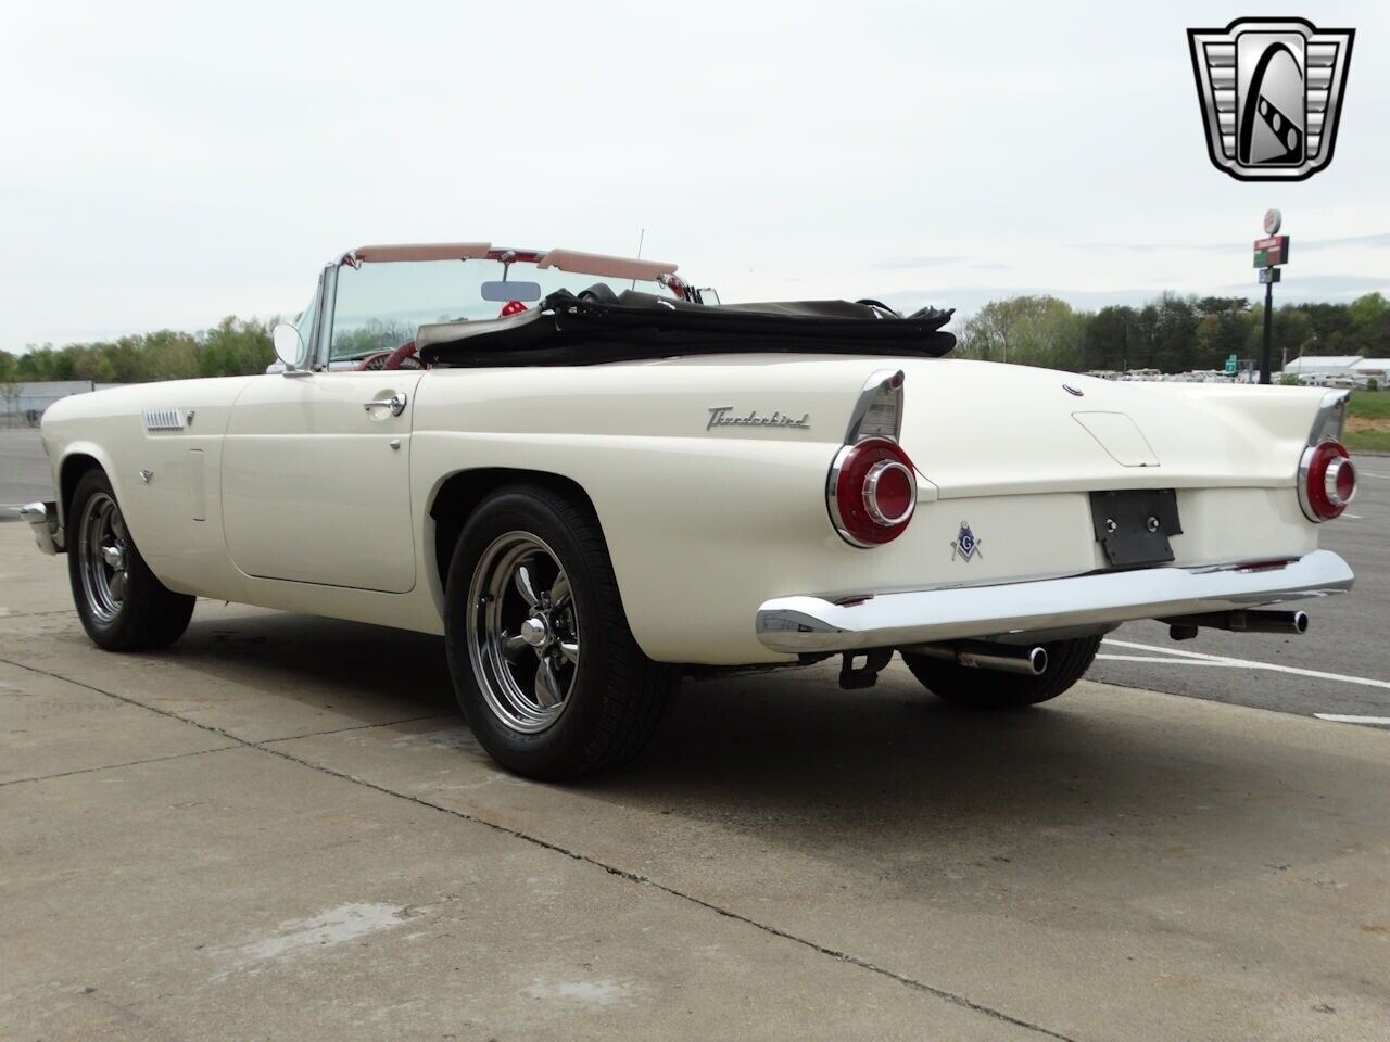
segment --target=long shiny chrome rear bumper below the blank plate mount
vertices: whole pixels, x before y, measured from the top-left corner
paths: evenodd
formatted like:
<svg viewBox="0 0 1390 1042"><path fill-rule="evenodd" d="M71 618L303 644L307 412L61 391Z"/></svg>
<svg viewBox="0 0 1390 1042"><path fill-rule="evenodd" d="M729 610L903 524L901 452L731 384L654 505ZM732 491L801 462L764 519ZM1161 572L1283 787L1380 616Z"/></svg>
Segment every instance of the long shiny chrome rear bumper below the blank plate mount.
<svg viewBox="0 0 1390 1042"><path fill-rule="evenodd" d="M990 638L1136 618L1279 604L1351 589L1330 550L1282 565L1143 568L999 586L774 597L758 610L758 639L774 652L852 652Z"/></svg>

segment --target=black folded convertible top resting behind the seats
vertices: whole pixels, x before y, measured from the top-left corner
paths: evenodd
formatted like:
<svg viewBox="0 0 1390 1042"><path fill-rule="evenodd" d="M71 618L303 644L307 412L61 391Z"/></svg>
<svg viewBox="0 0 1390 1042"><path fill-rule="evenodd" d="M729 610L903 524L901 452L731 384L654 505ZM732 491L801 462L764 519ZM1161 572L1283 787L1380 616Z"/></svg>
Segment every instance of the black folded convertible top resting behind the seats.
<svg viewBox="0 0 1390 1042"><path fill-rule="evenodd" d="M423 361L450 367L763 352L940 357L955 347L955 336L941 332L951 314L930 308L898 318L848 300L692 304L632 290L602 301L559 290L510 318L421 325L416 345Z"/></svg>

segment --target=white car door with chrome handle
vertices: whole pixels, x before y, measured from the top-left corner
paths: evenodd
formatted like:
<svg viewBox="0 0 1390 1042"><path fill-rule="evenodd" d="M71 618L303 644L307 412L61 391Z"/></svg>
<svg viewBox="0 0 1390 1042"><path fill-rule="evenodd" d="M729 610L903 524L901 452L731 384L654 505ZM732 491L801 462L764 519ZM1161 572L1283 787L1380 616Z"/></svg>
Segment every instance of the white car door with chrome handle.
<svg viewBox="0 0 1390 1042"><path fill-rule="evenodd" d="M410 427L423 375L250 381L222 449L224 531L240 571L388 593L414 588Z"/></svg>

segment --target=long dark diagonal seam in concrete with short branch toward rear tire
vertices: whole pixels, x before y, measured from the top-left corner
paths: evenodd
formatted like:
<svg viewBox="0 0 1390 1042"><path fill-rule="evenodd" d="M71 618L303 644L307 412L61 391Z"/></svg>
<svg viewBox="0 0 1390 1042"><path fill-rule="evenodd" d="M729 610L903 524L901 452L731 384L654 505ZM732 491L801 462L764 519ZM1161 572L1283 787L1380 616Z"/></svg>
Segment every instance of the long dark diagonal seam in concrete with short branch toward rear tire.
<svg viewBox="0 0 1390 1042"><path fill-rule="evenodd" d="M1026 1031L1033 1031L1033 1032L1036 1032L1038 1035L1044 1035L1047 1038L1055 1038L1059 1042L1079 1042L1077 1039L1072 1038L1070 1035L1063 1035L1063 1034L1061 1034L1058 1031L1052 1031L1051 1028L1045 1028L1045 1027L1042 1027L1040 1024L1033 1024L1033 1023L1022 1020L1019 1017L1013 1017L1013 1016L1011 1016L1008 1013L1004 1013L1002 1010L994 1009L992 1006L984 1006L983 1003L979 1003L979 1002L974 1002L972 999L967 999L963 995L956 995L955 992L947 991L945 988L938 988L935 985L927 984L926 981L919 981L915 977L908 977L906 974L901 974L901 973L898 973L895 970L890 970L890 968L887 968L884 966L878 966L877 963L870 961L869 959L865 959L862 956L856 956L856 954L853 954L851 952L844 952L844 950L837 949L837 948L830 948L827 945L821 945L821 943L819 943L816 941L812 941L809 938L801 936L799 934L792 934L792 932L790 932L787 929L781 929L780 927L774 927L774 925L770 925L767 923L760 923L759 920L755 920L755 918L752 918L749 916L745 916L745 914L742 914L739 911L734 911L731 909L721 907L719 904L714 904L712 902L705 900L703 898L696 898L695 895L687 893L685 891L678 891L674 886L667 886L666 884L657 882L656 879L653 879L653 878L651 878L648 875L642 875L641 873L634 873L630 868L619 868L617 866L607 864L606 861L600 861L596 857L592 857L589 854L581 853L578 850L573 850L573 849L570 849L567 846L560 846L559 843L550 842L549 839L542 839L541 836L537 836L537 835L531 835L530 832L523 832L520 829L510 828L507 825L500 825L500 824L498 824L495 821L488 821L486 818L481 818L481 817L477 817L474 814L468 814L467 811L457 810L455 807L446 807L446 806L439 804L439 803L432 803L432 802L430 802L430 800L427 800L427 799L424 799L421 796L413 796L409 792L396 792L395 789L388 789L385 785L378 785L377 782L368 781L368 779L361 778L361 777L359 777L356 774L348 774L346 771L339 771L339 770L335 770L332 767L327 767L324 764L314 763L313 760L304 760L303 757L293 756L292 753L286 753L282 749L271 749L270 747L271 742L288 742L288 741L295 741L295 739L277 738L277 739L267 739L264 742L247 742L245 738L238 738L236 735L232 735L232 734L229 734L228 731L225 731L225 729L222 729L220 727L214 727L213 724L202 724L202 722L199 722L196 720L189 720L188 717L182 717L178 713L172 713L172 711L165 710L165 709L158 709L156 706L147 706L143 702L138 702L136 699L128 697L125 695L117 695L117 693L110 692L110 690L103 690L101 688L96 688L96 686L93 686L90 684L86 684L85 681L75 681L75 679L71 679L70 677L63 677L61 674L50 672L47 670L39 670L39 668L36 668L33 665L25 665L24 663L17 663L17 661L14 661L11 659L0 659L0 663L6 663L8 665L14 665L14 667L17 667L19 670L28 670L29 672L36 672L36 674L40 674L43 677L51 677L53 679L65 681L68 684L75 684L79 688L86 688L88 690L96 692L97 695L106 695L107 697L115 699L117 702L124 702L124 703L128 703L131 706L139 706L140 709L146 709L150 713L156 713L156 714L158 714L161 717L168 717L170 720L178 720L178 721L182 721L182 722L189 724L192 727L200 728L203 731L210 731L213 734L222 735L224 738L228 738L232 742L235 742L238 746L245 746L247 749L257 749L257 750L260 750L263 753L270 753L271 756L277 756L277 757L279 757L282 760L286 760L289 763L299 764L300 767L307 767L311 771L318 771L320 774L325 774L325 775L328 775L331 778L339 778L342 781L349 781L349 782L352 782L354 785L360 785L360 786L363 786L366 789L371 789L373 792L379 792L384 796L391 796L393 799L406 800L406 802L414 803L414 804L417 804L420 807L425 807L428 810L435 810L435 811L439 811L441 814L448 814L448 816L450 816L453 818L457 818L460 821L468 821L468 822L475 824L475 825L482 825L484 828L491 828L495 832L500 832L503 835L512 836L513 839L520 839L524 843L531 843L532 846L538 846L542 850L552 850L552 852L555 852L557 854L563 854L564 857L569 857L573 861L580 861L580 863L591 866L594 868L600 868L602 871L607 873L609 875L616 875L616 877L619 877L621 879L627 879L628 882L638 884L639 886L651 886L652 889L659 891L662 893L666 893L666 895L669 895L671 898L688 902L691 904L695 904L696 907L705 909L706 911L713 911L716 916L721 916L721 917L733 920L735 923L742 923L744 925L752 927L753 929L762 931L763 934L769 934L770 936L776 936L776 938L780 938L783 941L791 941L792 943L801 945L802 948L806 948L806 949L810 949L812 952L816 952L817 954L828 956L830 959L834 959L837 961L847 963L849 966L858 967L860 970L866 970L866 971L877 974L880 977L885 977L890 981L895 981L895 982L903 985L905 988L910 988L912 991L920 992L923 995L930 995L933 998L937 998L937 999L941 999L944 1002L948 1002L952 1006L959 1006L960 1009L970 1010L972 1013L979 1013L980 1016L988 1017L990 1020L997 1020L997 1021L1004 1023L1004 1024L1012 1024L1013 1027L1024 1028ZM416 717L416 720L430 720L430 718L432 718L432 717ZM407 722L407 721L399 721L399 722ZM366 724L363 727L350 727L350 728L342 728L342 729L343 731L361 731L361 729L373 728L373 727L391 727L391 721L384 721L381 724ZM322 734L339 734L339 732L328 731L328 732L322 732ZM302 735L302 738L314 738L314 735ZM232 747L232 746L228 746L228 747ZM218 750L204 750L204 753L206 752L218 752ZM203 754L203 753L196 753L196 754ZM175 759L175 757L164 757L164 759ZM95 768L95 770L101 770L101 768Z"/></svg>

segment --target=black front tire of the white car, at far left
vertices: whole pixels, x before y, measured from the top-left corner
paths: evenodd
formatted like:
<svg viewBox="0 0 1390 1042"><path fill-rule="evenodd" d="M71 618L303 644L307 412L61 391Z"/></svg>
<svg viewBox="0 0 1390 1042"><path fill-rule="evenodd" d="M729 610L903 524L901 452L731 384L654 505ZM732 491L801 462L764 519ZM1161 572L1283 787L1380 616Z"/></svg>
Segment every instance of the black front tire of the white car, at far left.
<svg viewBox="0 0 1390 1042"><path fill-rule="evenodd" d="M93 525L100 521L99 510L113 518L106 528L111 536L106 545L118 545L121 553L120 568L104 565L104 599L96 592L100 582L90 571L83 581L83 571L93 567L93 553L97 553L90 536ZM90 470L82 475L68 503L65 521L72 600L92 642L108 652L149 652L178 640L188 629L197 599L175 593L154 578L135 546L135 538L124 527L115 490L103 471ZM124 578L118 579L118 572L124 572ZM120 596L113 596L117 589Z"/></svg>

